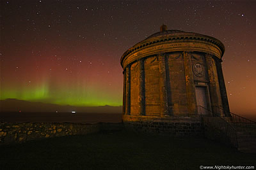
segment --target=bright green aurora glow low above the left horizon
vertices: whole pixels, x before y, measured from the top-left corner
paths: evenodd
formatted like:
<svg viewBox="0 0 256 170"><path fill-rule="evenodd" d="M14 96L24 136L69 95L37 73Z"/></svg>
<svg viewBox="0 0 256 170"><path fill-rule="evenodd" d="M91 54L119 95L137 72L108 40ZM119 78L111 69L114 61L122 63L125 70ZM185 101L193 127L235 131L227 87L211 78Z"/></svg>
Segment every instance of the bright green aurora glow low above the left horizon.
<svg viewBox="0 0 256 170"><path fill-rule="evenodd" d="M86 89L59 87L52 91L47 84L42 84L37 87L1 88L1 100L9 98L71 106L122 105L122 96L114 95L108 90L101 90L99 87Z"/></svg>

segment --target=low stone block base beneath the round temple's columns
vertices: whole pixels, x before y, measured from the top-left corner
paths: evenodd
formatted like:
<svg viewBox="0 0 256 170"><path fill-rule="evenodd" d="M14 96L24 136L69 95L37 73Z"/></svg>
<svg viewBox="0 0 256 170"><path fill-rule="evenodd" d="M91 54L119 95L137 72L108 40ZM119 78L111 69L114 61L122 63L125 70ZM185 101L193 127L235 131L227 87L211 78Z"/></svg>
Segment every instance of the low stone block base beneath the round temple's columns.
<svg viewBox="0 0 256 170"><path fill-rule="evenodd" d="M204 136L200 117L148 117L124 115L126 129L168 136Z"/></svg>

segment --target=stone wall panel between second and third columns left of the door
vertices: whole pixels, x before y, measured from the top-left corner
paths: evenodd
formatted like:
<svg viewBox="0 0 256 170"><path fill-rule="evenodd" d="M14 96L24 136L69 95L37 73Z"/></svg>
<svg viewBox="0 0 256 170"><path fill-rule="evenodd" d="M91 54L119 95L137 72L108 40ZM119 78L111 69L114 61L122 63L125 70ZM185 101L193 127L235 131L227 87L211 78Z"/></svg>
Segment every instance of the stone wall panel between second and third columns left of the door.
<svg viewBox="0 0 256 170"><path fill-rule="evenodd" d="M159 61L157 57L145 59L146 115L160 116Z"/></svg>

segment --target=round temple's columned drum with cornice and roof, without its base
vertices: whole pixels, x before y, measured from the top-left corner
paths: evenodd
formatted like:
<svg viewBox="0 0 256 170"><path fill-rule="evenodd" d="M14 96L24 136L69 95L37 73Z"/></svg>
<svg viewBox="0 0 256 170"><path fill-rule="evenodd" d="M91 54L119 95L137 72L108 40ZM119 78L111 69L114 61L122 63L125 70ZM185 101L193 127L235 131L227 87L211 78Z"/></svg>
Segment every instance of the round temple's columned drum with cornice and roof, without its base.
<svg viewBox="0 0 256 170"><path fill-rule="evenodd" d="M202 114L198 106L230 116L221 69L224 52L216 38L177 30L156 32L132 46L120 60L125 118L193 117Z"/></svg>

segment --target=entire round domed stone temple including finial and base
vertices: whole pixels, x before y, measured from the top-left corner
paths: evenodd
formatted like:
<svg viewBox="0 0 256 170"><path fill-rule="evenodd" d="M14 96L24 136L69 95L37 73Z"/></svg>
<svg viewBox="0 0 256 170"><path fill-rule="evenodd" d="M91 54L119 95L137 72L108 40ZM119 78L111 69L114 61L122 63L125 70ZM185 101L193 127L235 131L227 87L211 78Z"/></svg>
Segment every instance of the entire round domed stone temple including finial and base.
<svg viewBox="0 0 256 170"><path fill-rule="evenodd" d="M224 52L216 38L166 25L129 48L120 59L125 127L195 136L209 131L209 125L225 128L228 140L237 143L221 68Z"/></svg>

